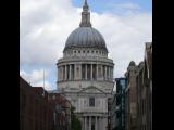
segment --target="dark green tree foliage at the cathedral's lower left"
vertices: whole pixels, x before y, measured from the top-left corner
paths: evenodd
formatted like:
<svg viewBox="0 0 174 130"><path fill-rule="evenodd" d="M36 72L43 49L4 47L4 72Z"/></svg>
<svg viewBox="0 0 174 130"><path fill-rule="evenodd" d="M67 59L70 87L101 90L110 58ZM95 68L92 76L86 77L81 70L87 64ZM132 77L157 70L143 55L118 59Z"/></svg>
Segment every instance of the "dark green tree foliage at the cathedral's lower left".
<svg viewBox="0 0 174 130"><path fill-rule="evenodd" d="M82 125L77 116L74 114L75 107L71 107L71 128L72 130L82 130Z"/></svg>

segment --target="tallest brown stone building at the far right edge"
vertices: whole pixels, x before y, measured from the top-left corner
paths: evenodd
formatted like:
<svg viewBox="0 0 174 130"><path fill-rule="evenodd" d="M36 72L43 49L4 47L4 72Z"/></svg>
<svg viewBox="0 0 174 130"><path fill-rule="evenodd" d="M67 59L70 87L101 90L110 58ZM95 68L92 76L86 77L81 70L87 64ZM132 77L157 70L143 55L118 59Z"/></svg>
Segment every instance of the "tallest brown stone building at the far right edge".
<svg viewBox="0 0 174 130"><path fill-rule="evenodd" d="M145 60L137 73L138 130L152 130L152 43L147 42Z"/></svg>

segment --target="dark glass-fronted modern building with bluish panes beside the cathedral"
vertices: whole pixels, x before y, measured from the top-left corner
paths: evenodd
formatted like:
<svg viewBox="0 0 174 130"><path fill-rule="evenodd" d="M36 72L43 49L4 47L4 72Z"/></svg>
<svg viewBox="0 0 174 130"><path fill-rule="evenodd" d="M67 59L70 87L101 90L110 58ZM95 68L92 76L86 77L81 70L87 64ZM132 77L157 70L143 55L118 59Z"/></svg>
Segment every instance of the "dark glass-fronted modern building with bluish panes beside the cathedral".
<svg viewBox="0 0 174 130"><path fill-rule="evenodd" d="M112 99L112 130L125 130L125 88L126 78L116 78L116 91Z"/></svg>

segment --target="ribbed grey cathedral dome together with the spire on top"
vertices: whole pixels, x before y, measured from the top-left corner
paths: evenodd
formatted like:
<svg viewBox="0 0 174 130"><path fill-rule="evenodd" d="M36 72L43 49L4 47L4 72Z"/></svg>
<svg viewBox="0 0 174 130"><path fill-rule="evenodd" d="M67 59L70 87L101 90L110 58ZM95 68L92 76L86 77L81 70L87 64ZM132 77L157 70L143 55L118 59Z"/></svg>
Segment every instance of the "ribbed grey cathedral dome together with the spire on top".
<svg viewBox="0 0 174 130"><path fill-rule="evenodd" d="M86 0L83 6L79 27L70 34L64 51L74 48L95 48L108 52L102 35L91 27L90 12L88 12L88 4Z"/></svg>

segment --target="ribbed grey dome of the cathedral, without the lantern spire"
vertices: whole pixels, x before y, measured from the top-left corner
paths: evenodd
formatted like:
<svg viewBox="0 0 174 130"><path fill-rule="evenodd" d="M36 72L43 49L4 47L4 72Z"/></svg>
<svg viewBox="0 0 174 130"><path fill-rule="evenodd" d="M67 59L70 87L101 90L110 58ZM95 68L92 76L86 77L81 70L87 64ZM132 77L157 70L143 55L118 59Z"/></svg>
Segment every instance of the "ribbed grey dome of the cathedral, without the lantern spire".
<svg viewBox="0 0 174 130"><path fill-rule="evenodd" d="M92 27L78 27L67 38L64 51L72 48L96 48L107 50L102 35Z"/></svg>

